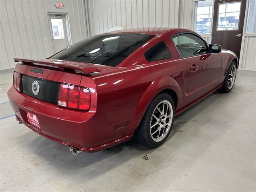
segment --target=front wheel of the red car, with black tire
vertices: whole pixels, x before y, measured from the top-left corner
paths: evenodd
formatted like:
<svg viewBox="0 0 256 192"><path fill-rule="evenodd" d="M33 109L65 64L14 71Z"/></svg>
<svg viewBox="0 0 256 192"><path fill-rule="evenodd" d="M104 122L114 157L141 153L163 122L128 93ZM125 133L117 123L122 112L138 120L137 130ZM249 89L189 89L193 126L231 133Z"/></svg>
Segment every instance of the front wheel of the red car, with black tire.
<svg viewBox="0 0 256 192"><path fill-rule="evenodd" d="M223 92L223 93L230 92L234 87L235 80L236 80L236 62L232 61L228 68L228 72L226 74L222 87L220 88L220 92Z"/></svg>

